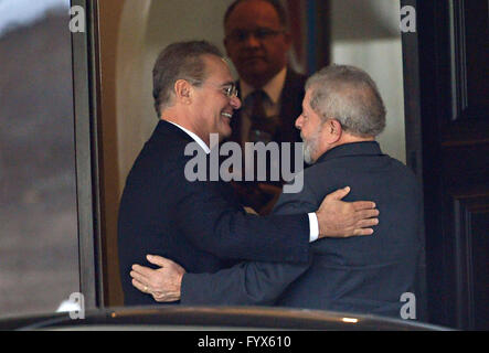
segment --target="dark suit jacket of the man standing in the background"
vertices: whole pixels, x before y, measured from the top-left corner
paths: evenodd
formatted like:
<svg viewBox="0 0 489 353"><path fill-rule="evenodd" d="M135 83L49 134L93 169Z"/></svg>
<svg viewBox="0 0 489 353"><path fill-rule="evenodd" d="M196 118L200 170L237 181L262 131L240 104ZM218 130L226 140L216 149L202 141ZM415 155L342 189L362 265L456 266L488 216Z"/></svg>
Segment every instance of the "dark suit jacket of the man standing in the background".
<svg viewBox="0 0 489 353"><path fill-rule="evenodd" d="M300 131L296 129L295 121L297 117L302 111L302 99L305 95L304 86L306 84L307 76L301 75L293 71L290 67L287 68L287 75L284 83L284 88L280 94L280 109L279 109L279 126L275 136L273 137L273 141L275 142L301 142ZM237 83L238 92L240 83ZM241 99L243 99L240 96ZM234 113L233 119L231 120L231 128L233 130L231 138L228 140L237 142L242 145L242 129L241 129L241 120L242 120L242 110L238 109ZM280 151L281 153L281 151ZM293 162L291 170L298 171L304 168L304 165L294 165L294 148L290 153L290 161ZM280 157L281 158L281 154ZM281 159L280 159L281 160ZM273 182L270 181L270 171L268 161L268 170L267 170L267 182L280 186L283 181ZM280 164L278 164L278 170L280 170ZM257 182L234 182L233 183L237 193L240 201L246 205L254 207L258 211L259 207L265 205L270 196L259 192L257 188Z"/></svg>

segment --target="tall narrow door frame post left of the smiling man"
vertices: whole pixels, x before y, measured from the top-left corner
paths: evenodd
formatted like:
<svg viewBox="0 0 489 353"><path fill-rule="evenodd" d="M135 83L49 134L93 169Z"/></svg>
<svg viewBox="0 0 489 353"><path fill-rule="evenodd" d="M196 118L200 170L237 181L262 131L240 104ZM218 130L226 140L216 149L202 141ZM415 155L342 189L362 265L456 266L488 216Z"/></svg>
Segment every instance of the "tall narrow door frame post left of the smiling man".
<svg viewBox="0 0 489 353"><path fill-rule="evenodd" d="M97 0L72 0L85 10L85 32L72 32L79 289L85 309L104 308Z"/></svg>

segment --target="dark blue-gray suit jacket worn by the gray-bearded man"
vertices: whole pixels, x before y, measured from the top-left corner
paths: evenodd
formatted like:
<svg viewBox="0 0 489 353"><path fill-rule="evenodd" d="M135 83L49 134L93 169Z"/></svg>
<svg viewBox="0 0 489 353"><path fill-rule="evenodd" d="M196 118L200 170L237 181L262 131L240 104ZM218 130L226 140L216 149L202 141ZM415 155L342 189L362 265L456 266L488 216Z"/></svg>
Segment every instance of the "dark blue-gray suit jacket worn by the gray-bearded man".
<svg viewBox="0 0 489 353"><path fill-rule="evenodd" d="M382 154L376 142L342 145L305 170L304 189L283 194L275 213L317 210L322 197L351 186L344 199L380 211L372 236L325 238L307 264L242 263L214 275L185 274L184 304L277 304L398 317L413 291L421 249L422 207L414 174Z"/></svg>

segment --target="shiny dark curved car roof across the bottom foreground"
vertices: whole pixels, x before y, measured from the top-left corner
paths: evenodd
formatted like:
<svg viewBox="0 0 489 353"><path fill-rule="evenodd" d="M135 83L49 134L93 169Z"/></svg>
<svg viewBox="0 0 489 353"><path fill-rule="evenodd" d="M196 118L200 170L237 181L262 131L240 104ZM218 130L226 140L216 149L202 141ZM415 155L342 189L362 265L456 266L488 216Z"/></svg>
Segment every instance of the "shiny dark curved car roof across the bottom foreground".
<svg viewBox="0 0 489 353"><path fill-rule="evenodd" d="M145 307L0 320L0 330L321 330L321 331L443 331L447 328L353 313L256 307ZM201 334L204 338L205 334Z"/></svg>

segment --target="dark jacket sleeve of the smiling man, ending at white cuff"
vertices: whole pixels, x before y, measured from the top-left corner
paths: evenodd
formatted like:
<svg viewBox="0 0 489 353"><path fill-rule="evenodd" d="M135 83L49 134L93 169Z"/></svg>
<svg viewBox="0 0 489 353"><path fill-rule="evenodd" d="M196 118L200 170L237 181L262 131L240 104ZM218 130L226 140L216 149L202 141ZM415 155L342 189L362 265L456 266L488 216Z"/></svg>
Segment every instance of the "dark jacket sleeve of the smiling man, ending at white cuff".
<svg viewBox="0 0 489 353"><path fill-rule="evenodd" d="M176 173L183 169L182 165ZM187 182L184 178L176 176L172 218L180 233L196 247L228 259L307 260L310 231L306 213L267 217L249 215L233 202L234 199L223 197L223 193L232 192L227 185Z"/></svg>

